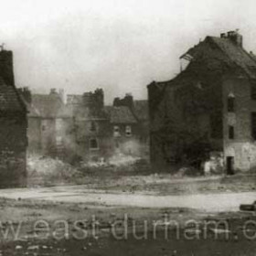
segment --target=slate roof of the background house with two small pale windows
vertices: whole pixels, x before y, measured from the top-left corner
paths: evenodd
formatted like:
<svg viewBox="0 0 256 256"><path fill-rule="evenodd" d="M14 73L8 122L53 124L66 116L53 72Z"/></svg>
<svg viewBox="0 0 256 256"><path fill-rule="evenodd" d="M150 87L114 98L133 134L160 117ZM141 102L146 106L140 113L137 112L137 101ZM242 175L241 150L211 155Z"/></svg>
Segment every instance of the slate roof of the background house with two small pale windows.
<svg viewBox="0 0 256 256"><path fill-rule="evenodd" d="M133 113L126 106L106 106L104 109L109 115L111 123L137 123Z"/></svg>

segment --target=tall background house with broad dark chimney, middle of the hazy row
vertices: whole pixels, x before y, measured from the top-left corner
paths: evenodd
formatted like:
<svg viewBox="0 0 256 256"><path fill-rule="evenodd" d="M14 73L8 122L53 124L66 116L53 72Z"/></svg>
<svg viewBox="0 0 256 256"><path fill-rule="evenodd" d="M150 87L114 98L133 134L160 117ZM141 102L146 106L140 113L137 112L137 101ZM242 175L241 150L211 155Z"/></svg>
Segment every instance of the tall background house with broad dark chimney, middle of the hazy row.
<svg viewBox="0 0 256 256"><path fill-rule="evenodd" d="M104 112L103 91L68 95L67 105L73 112L76 154L85 162L108 158L111 155L110 126Z"/></svg>

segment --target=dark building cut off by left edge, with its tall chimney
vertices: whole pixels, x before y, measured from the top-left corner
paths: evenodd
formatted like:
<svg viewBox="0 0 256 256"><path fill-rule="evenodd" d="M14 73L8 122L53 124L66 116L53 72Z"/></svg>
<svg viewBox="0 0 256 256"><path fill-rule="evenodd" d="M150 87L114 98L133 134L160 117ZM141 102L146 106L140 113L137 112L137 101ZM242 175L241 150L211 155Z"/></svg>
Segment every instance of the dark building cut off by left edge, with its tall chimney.
<svg viewBox="0 0 256 256"><path fill-rule="evenodd" d="M26 185L27 108L15 86L13 53L0 51L0 187Z"/></svg>

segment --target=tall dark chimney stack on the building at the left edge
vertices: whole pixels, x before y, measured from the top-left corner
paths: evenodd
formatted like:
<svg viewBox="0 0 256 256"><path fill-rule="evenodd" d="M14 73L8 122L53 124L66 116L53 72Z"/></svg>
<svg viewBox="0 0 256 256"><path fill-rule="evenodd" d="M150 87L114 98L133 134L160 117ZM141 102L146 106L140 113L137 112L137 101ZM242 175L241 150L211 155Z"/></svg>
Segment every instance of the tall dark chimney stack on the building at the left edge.
<svg viewBox="0 0 256 256"><path fill-rule="evenodd" d="M0 51L0 77L7 85L15 86L13 52L10 50Z"/></svg>

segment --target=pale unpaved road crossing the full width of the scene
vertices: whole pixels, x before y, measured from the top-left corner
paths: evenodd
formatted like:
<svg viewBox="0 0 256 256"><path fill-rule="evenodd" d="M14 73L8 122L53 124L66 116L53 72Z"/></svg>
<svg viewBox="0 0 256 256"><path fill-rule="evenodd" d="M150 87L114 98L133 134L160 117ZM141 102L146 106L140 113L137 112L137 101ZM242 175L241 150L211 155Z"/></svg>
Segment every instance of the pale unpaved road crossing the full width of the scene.
<svg viewBox="0 0 256 256"><path fill-rule="evenodd" d="M220 212L237 211L240 204L251 204L256 200L256 192L157 196L144 195L142 193L116 193L112 191L105 193L102 190L85 189L83 186L63 186L2 189L0 190L0 197L77 202L118 207L197 208L211 212Z"/></svg>

